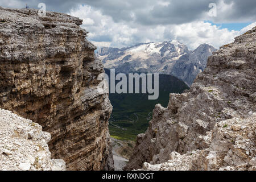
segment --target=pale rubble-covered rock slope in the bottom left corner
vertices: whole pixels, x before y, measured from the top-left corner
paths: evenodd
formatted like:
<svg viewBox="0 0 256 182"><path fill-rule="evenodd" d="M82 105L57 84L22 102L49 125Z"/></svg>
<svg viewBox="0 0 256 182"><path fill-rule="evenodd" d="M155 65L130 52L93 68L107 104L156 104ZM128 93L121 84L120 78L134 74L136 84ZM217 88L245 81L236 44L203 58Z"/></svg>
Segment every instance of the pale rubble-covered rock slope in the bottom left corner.
<svg viewBox="0 0 256 182"><path fill-rule="evenodd" d="M64 171L64 160L51 159L50 139L38 123L0 109L0 171Z"/></svg>

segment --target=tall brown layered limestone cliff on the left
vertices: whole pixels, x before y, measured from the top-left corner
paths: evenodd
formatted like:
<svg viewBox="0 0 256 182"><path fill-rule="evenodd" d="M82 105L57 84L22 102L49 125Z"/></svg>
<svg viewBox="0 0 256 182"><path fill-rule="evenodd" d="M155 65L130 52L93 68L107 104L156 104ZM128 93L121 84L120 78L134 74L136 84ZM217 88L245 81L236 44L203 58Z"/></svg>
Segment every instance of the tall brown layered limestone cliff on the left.
<svg viewBox="0 0 256 182"><path fill-rule="evenodd" d="M52 158L69 170L113 169L112 106L98 92L104 72L82 20L0 8L0 107L51 133Z"/></svg>

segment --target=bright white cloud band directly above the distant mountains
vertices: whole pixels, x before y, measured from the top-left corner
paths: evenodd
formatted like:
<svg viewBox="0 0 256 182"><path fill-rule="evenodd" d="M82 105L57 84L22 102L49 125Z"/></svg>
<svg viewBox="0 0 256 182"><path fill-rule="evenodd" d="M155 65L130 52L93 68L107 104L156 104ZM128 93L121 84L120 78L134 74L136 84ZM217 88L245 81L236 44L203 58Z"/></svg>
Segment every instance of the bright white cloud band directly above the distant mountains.
<svg viewBox="0 0 256 182"><path fill-rule="evenodd" d="M69 14L84 20L82 27L90 32L89 40L96 46L106 47L126 47L141 42L179 40L189 49L195 49L203 43L219 48L233 42L236 36L256 26L252 23L241 31L230 31L199 20L183 24L159 25L143 25L135 20L114 22L112 16L104 15L101 10L89 5L80 5L72 9Z"/></svg>

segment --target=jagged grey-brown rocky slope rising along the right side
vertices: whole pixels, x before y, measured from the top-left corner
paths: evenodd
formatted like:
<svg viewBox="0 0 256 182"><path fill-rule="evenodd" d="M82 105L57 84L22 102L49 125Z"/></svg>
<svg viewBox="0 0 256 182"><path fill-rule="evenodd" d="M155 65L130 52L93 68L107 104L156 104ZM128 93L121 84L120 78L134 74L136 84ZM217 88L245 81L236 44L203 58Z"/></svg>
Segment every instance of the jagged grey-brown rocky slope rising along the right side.
<svg viewBox="0 0 256 182"><path fill-rule="evenodd" d="M208 58L191 89L156 105L125 169L256 169L256 27Z"/></svg>

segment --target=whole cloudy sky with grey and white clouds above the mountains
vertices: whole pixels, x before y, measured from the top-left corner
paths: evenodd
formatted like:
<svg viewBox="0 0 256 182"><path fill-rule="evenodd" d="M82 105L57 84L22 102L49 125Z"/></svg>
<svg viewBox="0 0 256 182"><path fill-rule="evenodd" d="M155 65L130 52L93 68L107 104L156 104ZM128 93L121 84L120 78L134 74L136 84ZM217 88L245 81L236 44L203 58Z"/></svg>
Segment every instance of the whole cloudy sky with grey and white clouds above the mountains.
<svg viewBox="0 0 256 182"><path fill-rule="evenodd" d="M96 46L179 40L190 49L218 48L256 26L255 0L1 0L0 6L39 9L40 2L83 19Z"/></svg>

